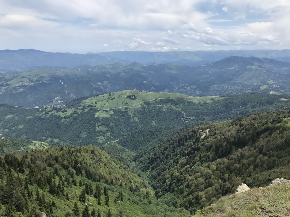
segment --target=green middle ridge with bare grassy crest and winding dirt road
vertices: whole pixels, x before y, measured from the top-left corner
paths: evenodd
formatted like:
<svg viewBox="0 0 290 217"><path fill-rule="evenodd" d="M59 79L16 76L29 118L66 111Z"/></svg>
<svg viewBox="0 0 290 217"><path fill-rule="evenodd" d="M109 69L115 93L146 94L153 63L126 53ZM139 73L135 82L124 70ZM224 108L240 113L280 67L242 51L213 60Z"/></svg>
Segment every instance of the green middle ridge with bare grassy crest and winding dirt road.
<svg viewBox="0 0 290 217"><path fill-rule="evenodd" d="M0 106L0 134L58 145L118 144L138 150L170 130L289 106L288 95L191 97L178 93L111 92L64 108ZM169 130L169 131L168 131Z"/></svg>

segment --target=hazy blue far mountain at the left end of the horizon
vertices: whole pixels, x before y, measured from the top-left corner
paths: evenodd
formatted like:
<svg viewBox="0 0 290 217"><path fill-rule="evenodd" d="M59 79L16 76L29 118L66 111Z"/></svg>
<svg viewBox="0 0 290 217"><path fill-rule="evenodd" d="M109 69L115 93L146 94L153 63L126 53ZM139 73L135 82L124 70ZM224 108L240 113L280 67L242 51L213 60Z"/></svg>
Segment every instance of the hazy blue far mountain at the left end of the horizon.
<svg viewBox="0 0 290 217"><path fill-rule="evenodd" d="M51 53L35 49L0 50L0 70L2 71L40 66L72 68L79 65L103 65L115 62L130 63L130 61L111 56Z"/></svg>

